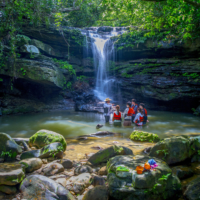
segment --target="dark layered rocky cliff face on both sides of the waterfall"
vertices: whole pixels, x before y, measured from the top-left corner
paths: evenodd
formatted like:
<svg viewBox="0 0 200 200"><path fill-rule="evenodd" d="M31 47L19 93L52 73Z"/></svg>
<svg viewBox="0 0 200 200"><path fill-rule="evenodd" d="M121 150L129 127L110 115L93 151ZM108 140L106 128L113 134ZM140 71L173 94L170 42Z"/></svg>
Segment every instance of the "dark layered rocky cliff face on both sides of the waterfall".
<svg viewBox="0 0 200 200"><path fill-rule="evenodd" d="M110 31L112 28L98 29L102 35ZM87 35L88 29L83 32ZM98 100L93 93L93 41L88 42L87 55L85 41L79 29L25 27L17 44L19 58L15 63L8 60L0 69L0 113L89 111ZM117 43L116 49L123 45ZM199 41L146 40L115 54L109 75L115 77L123 103L136 98L150 109L188 112L200 104ZM55 58L68 61L79 79Z"/></svg>

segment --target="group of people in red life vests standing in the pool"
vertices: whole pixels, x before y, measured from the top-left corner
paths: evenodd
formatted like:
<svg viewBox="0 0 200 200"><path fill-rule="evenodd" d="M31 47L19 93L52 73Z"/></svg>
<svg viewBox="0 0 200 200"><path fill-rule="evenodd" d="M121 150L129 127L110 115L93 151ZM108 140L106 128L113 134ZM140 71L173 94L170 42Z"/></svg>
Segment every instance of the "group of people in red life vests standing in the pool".
<svg viewBox="0 0 200 200"><path fill-rule="evenodd" d="M124 126L131 126L132 123L135 123L137 126L142 126L148 122L147 119L147 110L145 108L144 103L140 103L139 105L136 103L135 99L132 99L131 102L127 102L126 109L122 114L120 112L120 106L117 105L113 107L113 104L110 103L111 99L106 98L104 103L104 116L105 121L109 122L110 115L113 112L113 108L115 111L113 113L113 123L116 126L120 126L122 123L122 117L124 117Z"/></svg>

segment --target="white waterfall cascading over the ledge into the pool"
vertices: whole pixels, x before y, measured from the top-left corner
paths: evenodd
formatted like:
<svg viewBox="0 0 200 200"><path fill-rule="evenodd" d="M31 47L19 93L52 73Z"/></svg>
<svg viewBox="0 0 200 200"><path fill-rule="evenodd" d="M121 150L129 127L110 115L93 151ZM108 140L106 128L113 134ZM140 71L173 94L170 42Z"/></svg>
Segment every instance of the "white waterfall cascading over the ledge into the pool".
<svg viewBox="0 0 200 200"><path fill-rule="evenodd" d="M110 32L99 32L98 28L91 28L88 31L87 37L90 38L92 55L95 68L96 85L94 89L95 96L103 101L105 98L115 99L119 101L120 91L116 78L109 73L109 68L115 61L115 48L111 37L121 34L122 31L116 31L116 28L111 28ZM86 39L86 41L88 41ZM86 51L88 51L86 44ZM116 94L114 94L116 93ZM117 98L117 99L116 99Z"/></svg>

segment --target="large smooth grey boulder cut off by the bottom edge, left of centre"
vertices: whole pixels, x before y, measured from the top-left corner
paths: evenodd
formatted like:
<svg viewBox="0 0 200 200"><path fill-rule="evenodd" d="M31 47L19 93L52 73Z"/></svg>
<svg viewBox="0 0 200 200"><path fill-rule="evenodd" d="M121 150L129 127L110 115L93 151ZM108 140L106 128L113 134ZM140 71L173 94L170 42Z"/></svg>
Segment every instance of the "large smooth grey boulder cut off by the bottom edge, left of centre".
<svg viewBox="0 0 200 200"><path fill-rule="evenodd" d="M42 175L28 176L20 185L24 199L75 200L62 185Z"/></svg>

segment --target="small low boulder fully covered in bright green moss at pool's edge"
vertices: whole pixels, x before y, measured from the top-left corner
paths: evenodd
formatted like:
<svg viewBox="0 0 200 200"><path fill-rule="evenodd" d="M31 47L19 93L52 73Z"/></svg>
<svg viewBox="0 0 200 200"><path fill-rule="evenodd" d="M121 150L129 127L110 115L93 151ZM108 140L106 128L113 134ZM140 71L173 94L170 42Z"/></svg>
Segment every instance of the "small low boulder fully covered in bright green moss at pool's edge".
<svg viewBox="0 0 200 200"><path fill-rule="evenodd" d="M130 135L130 139L133 141L145 141L145 142L159 142L160 138L157 134L148 133L144 131L133 131Z"/></svg>

